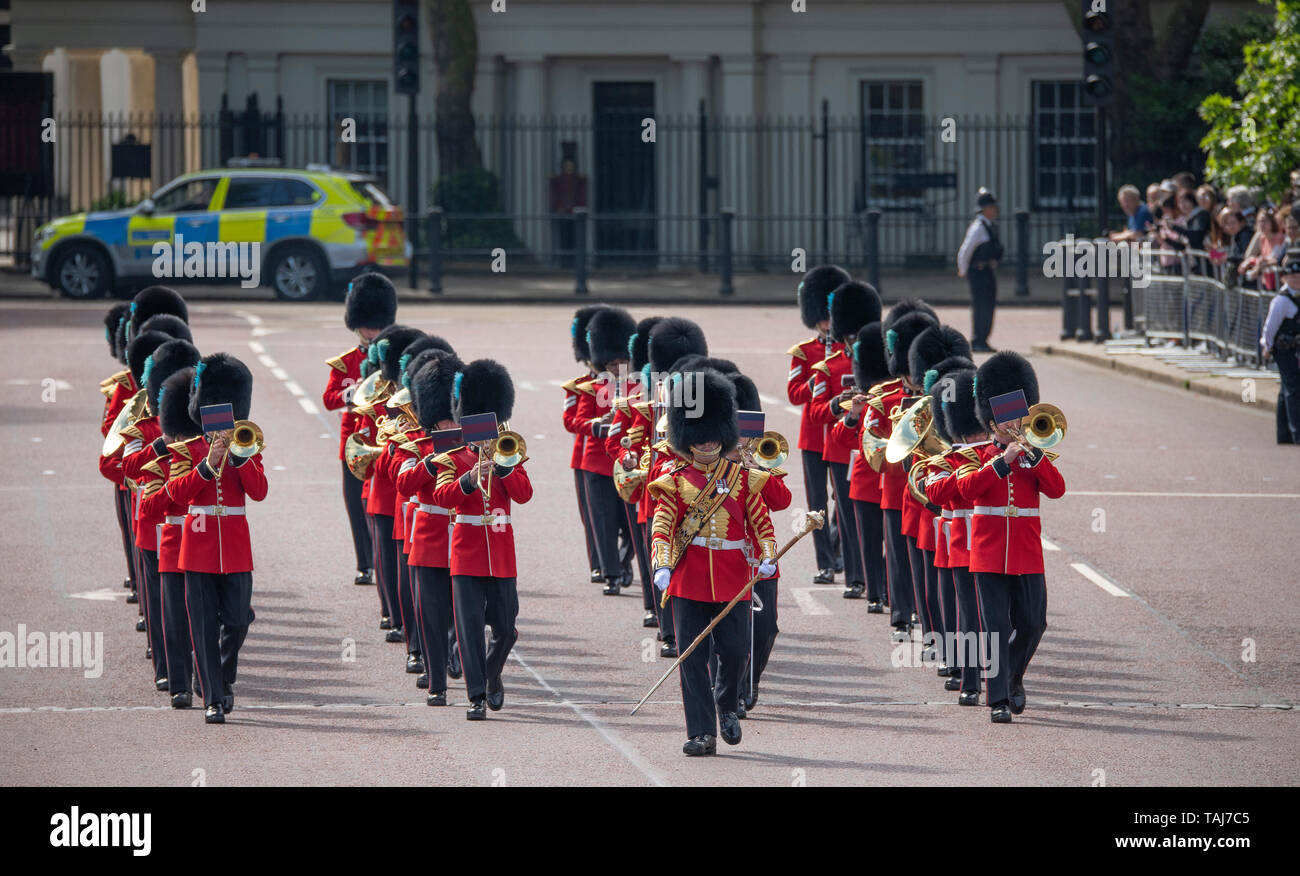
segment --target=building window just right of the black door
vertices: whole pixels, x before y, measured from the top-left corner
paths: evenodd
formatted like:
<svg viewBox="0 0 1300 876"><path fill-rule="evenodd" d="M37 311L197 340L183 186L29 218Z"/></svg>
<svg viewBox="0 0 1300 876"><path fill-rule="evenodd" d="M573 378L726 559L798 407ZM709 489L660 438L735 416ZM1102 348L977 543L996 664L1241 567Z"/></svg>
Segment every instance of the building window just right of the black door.
<svg viewBox="0 0 1300 876"><path fill-rule="evenodd" d="M862 177L868 203L918 205L922 188L907 174L926 169L920 81L862 83Z"/></svg>

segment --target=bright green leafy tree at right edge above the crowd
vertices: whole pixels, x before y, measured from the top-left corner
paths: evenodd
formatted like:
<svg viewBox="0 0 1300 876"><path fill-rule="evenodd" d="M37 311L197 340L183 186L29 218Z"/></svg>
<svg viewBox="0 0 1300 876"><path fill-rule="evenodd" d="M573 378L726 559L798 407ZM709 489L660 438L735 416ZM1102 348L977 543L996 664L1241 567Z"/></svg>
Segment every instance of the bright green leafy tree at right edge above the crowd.
<svg viewBox="0 0 1300 876"><path fill-rule="evenodd" d="M1274 6L1271 34L1245 45L1236 95L1212 94L1200 108L1205 173L1221 186L1253 186L1278 199L1300 168L1300 1Z"/></svg>

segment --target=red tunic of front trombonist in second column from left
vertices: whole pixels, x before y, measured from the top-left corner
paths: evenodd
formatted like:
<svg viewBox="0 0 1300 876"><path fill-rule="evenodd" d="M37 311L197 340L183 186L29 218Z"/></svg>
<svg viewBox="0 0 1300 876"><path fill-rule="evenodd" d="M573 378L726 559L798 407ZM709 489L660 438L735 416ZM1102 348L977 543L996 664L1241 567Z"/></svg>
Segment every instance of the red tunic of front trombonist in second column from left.
<svg viewBox="0 0 1300 876"><path fill-rule="evenodd" d="M512 578L515 571L515 530L510 522L512 502L523 504L533 498L528 472L519 464L508 474L493 473L491 493L484 502L482 489L462 478L478 464L478 454L460 447L434 457L424 465L436 472L433 504L455 512L451 532L451 574ZM467 491L464 487L469 486Z"/></svg>

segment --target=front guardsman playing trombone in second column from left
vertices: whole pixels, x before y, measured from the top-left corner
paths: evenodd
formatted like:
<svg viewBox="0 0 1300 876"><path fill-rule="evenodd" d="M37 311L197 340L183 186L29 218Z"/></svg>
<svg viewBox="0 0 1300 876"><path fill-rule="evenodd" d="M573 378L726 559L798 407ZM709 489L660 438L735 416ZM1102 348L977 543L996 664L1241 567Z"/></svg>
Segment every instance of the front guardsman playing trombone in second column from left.
<svg viewBox="0 0 1300 876"><path fill-rule="evenodd" d="M491 359L477 359L452 380L451 407L458 424L471 415L495 413L498 426L515 408L510 373ZM519 590L515 568L515 530L511 504L533 498L524 460L494 464L486 447L469 444L425 457L437 472L433 504L455 513L451 532L451 593L456 641L465 673L469 710L465 717L481 721L485 708L498 711L506 702L500 673L519 639ZM486 495L485 495L486 493ZM491 628L491 645L484 633Z"/></svg>

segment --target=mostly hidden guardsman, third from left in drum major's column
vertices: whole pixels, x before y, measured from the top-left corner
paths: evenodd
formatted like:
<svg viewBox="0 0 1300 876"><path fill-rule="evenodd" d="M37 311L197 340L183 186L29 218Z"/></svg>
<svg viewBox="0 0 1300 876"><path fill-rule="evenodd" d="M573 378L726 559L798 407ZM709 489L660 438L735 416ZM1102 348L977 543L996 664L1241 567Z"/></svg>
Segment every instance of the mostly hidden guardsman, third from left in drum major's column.
<svg viewBox="0 0 1300 876"><path fill-rule="evenodd" d="M610 432L604 437L604 452L614 461L615 474L619 470L636 472L649 470L650 443L654 437L654 422L651 399L647 391L650 386L650 360L649 344L650 330L654 329L662 316L650 316L637 324L637 330L628 341L629 378L627 381L627 395L614 400L614 421ZM645 467L642 467L645 461ZM642 626L658 626L659 613L655 611L654 577L650 572L650 529L645 516L645 476L641 483L633 481L630 491L623 494L623 513L628 519L628 529L632 532L632 547L637 555L637 567L641 571L641 602L645 613L641 616Z"/></svg>

